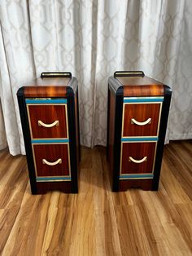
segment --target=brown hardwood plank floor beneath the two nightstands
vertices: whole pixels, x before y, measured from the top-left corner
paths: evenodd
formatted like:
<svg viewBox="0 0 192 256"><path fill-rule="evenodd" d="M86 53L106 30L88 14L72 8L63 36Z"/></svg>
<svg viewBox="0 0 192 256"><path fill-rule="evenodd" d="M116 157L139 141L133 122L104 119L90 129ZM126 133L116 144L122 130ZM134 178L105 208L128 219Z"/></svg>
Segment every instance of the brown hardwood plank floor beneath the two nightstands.
<svg viewBox="0 0 192 256"><path fill-rule="evenodd" d="M158 192L111 192L105 148L82 148L76 195L32 196L25 157L0 151L0 254L192 255L192 141L165 146Z"/></svg>

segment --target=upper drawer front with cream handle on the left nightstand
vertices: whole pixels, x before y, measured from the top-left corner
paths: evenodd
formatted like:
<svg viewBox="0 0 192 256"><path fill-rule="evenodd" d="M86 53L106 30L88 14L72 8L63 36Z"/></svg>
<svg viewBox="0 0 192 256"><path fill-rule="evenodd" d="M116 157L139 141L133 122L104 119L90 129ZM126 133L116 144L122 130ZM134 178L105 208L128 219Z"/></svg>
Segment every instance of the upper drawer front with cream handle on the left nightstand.
<svg viewBox="0 0 192 256"><path fill-rule="evenodd" d="M27 104L32 139L68 138L67 104Z"/></svg>

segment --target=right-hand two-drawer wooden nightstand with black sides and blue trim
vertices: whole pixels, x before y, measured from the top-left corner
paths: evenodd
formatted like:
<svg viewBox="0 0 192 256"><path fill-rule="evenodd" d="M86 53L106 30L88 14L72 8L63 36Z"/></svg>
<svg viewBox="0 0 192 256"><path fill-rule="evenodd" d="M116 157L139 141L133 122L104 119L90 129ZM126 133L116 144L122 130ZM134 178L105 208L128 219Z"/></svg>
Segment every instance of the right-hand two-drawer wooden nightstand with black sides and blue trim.
<svg viewBox="0 0 192 256"><path fill-rule="evenodd" d="M158 190L172 90L143 72L108 80L107 158L112 190Z"/></svg>

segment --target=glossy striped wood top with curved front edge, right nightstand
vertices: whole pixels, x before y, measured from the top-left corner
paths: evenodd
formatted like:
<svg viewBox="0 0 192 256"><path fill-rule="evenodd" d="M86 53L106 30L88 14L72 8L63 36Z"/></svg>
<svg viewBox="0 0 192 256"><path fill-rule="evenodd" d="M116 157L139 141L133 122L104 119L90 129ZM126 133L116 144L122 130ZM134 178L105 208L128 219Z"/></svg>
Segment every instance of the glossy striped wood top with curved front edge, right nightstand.
<svg viewBox="0 0 192 256"><path fill-rule="evenodd" d="M163 96L164 85L150 77L116 77L124 85L124 97Z"/></svg>

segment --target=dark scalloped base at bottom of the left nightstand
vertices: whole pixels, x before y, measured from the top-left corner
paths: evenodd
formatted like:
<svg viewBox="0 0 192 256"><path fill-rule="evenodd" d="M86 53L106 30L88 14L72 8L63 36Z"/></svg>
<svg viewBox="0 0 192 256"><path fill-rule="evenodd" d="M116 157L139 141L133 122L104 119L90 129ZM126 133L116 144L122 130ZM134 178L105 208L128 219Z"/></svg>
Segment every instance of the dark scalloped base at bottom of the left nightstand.
<svg viewBox="0 0 192 256"><path fill-rule="evenodd" d="M45 194L50 191L59 191L64 193L78 193L78 188L70 182L41 182L36 183L37 189L32 190L33 195Z"/></svg>

